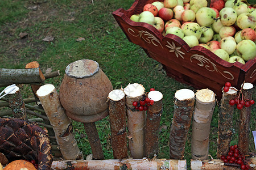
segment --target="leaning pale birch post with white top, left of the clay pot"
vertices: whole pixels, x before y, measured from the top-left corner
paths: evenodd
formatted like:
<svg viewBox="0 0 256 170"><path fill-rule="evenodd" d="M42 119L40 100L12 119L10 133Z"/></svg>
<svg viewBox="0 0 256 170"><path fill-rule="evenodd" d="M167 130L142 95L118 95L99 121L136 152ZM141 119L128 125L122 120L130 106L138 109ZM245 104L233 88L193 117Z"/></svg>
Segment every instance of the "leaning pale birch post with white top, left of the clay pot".
<svg viewBox="0 0 256 170"><path fill-rule="evenodd" d="M56 141L60 147L64 159L81 159L82 154L77 146L73 134L71 120L65 114L60 104L59 95L52 84L41 86L36 92L46 112L53 130Z"/></svg>

